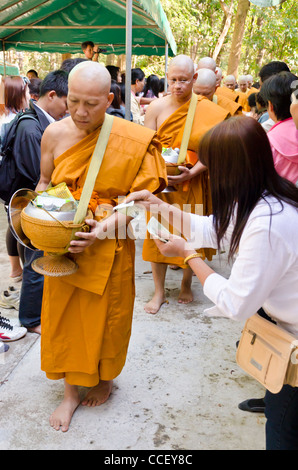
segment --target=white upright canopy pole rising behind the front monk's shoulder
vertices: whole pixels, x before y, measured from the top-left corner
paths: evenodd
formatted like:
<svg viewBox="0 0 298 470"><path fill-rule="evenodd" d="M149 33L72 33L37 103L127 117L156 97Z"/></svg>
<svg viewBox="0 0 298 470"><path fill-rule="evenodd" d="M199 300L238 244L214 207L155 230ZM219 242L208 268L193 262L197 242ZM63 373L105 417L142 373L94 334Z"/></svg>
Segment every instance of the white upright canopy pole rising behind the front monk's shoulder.
<svg viewBox="0 0 298 470"><path fill-rule="evenodd" d="M132 0L126 0L125 119L131 114Z"/></svg>

